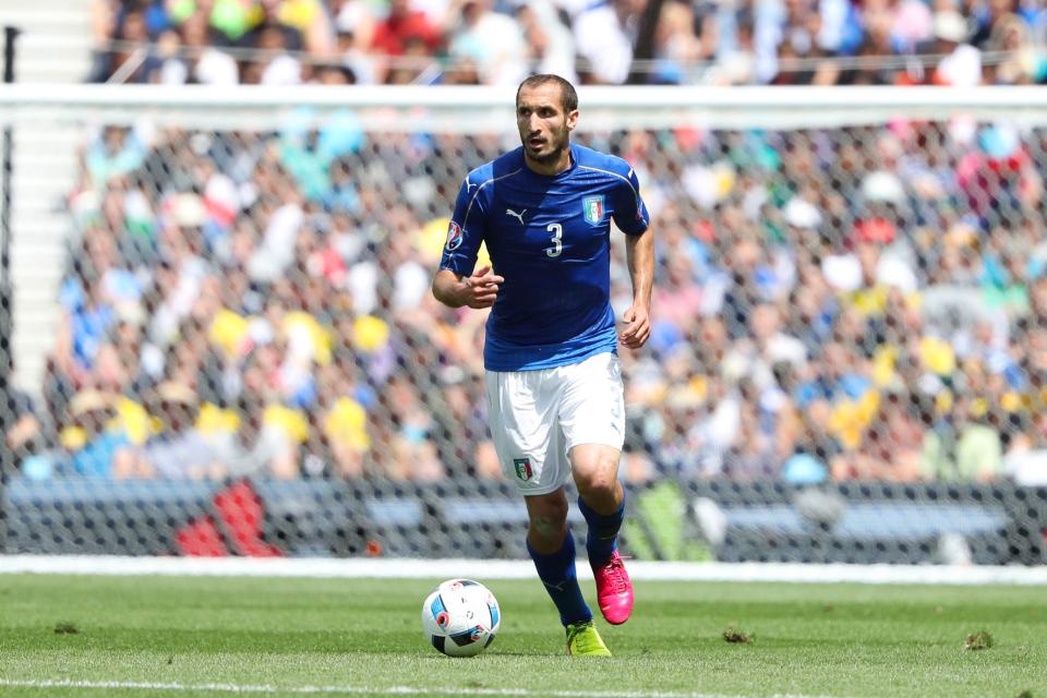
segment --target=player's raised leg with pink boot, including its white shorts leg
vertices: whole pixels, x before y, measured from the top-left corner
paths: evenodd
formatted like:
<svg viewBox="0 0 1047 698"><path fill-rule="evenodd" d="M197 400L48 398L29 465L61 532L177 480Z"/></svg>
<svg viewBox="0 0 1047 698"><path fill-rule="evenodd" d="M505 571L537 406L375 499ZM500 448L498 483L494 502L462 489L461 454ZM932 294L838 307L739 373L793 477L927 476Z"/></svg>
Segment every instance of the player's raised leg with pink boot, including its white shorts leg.
<svg viewBox="0 0 1047 698"><path fill-rule="evenodd" d="M609 623L633 612L633 582L617 551L625 518L618 462L625 434L622 371L617 357L598 354L571 368L561 406L578 506L589 525L586 550L597 581L600 611Z"/></svg>

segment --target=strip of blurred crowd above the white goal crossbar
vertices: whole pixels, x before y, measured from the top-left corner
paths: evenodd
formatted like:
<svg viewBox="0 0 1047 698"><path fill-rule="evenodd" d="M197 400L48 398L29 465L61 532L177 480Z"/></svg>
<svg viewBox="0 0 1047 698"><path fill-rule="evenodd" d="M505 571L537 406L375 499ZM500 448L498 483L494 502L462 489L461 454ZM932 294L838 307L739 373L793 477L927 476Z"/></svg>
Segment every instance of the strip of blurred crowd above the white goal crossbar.
<svg viewBox="0 0 1047 698"><path fill-rule="evenodd" d="M92 80L1037 84L1038 0L94 0Z"/></svg>

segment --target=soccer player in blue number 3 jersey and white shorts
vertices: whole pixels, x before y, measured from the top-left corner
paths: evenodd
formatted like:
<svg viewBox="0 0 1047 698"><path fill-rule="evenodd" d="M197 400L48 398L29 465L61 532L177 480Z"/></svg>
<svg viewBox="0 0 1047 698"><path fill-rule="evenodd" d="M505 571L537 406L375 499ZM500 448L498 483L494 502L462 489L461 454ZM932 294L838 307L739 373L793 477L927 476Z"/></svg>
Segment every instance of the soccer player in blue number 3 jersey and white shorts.
<svg viewBox="0 0 1047 698"><path fill-rule="evenodd" d="M484 346L491 432L502 468L527 503L527 549L567 629L567 652L607 650L575 573L564 485L573 476L600 611L633 611L616 538L625 434L621 341L650 335L653 236L636 172L570 142L578 96L557 75L516 94L522 147L469 172L458 192L433 293L452 308L490 308ZM626 234L633 304L621 332L610 302L611 219ZM486 242L492 266L474 269ZM492 268L493 267L493 268Z"/></svg>

